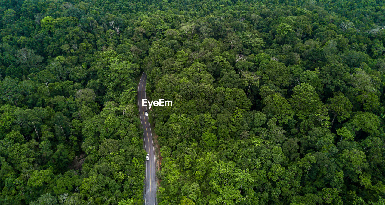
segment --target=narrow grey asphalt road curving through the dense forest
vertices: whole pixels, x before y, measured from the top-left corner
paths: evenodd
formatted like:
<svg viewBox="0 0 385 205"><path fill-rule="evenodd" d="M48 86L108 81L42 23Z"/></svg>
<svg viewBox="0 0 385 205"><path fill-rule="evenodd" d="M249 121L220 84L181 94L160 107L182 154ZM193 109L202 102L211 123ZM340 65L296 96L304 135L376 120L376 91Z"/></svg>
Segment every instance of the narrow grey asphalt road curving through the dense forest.
<svg viewBox="0 0 385 205"><path fill-rule="evenodd" d="M147 107L142 106L142 99L146 97L146 80L147 75L143 73L138 85L138 109L139 117L141 119L144 136L144 149L150 156L150 160L146 161L146 190L144 193L144 204L155 205L156 204L156 179L155 179L155 152L154 142L152 142L152 133L150 123L148 122L148 116L144 115L144 111L149 111Z"/></svg>

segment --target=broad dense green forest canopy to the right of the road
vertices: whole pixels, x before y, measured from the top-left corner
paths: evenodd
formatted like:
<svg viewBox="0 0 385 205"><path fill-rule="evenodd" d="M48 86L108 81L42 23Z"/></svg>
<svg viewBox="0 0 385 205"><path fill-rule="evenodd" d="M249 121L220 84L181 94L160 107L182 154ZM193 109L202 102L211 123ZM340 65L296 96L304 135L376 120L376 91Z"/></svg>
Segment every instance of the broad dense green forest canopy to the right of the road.
<svg viewBox="0 0 385 205"><path fill-rule="evenodd" d="M383 4L186 7L136 28L147 91L174 101L150 113L159 204L383 203Z"/></svg>

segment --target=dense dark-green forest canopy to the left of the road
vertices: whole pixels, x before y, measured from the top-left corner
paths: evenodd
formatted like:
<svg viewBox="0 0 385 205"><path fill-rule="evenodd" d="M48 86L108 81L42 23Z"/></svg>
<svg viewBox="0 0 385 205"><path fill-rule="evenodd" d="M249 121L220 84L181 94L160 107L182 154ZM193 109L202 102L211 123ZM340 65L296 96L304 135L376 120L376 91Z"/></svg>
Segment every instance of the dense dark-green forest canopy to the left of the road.
<svg viewBox="0 0 385 205"><path fill-rule="evenodd" d="M107 25L121 18L86 2L0 5L0 203L143 203L139 64Z"/></svg>

